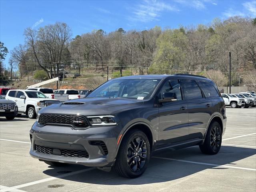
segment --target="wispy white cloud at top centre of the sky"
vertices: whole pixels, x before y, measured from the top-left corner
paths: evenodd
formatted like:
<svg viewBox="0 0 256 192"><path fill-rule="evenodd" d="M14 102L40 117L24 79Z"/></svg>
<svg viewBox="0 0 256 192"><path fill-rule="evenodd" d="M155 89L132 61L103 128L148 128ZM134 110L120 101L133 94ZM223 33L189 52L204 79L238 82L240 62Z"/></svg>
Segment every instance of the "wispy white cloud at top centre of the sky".
<svg viewBox="0 0 256 192"><path fill-rule="evenodd" d="M166 4L165 2L160 1L149 1L144 0L137 4L133 8L132 16L129 16L128 19L131 21L140 21L140 22L150 22L152 20L159 20L161 12L163 11L179 11L174 6Z"/></svg>

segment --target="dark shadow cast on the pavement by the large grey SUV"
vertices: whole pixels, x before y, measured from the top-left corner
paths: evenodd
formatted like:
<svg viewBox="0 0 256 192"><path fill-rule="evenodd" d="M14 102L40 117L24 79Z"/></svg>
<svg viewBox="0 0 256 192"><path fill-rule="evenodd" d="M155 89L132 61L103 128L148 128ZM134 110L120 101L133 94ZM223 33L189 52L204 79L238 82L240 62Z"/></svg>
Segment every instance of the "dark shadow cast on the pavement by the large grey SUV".
<svg viewBox="0 0 256 192"><path fill-rule="evenodd" d="M101 170L94 169L88 172L67 176L62 179L100 185L140 185L159 183L184 178L206 169L233 169L214 165L236 166L237 161L243 160L244 158L248 158L255 154L255 148L222 146L218 154L211 156L202 154L199 148L195 146L174 152L165 151L163 153L154 155L154 157L150 159L150 164L146 172L136 180L119 177L114 169L112 169L111 172L103 172ZM177 160L167 160L162 158L172 158L190 162L180 162ZM206 164L196 164L192 162L201 162ZM237 166L241 167L241 165ZM250 166L253 165L247 164L246 168L253 168ZM49 168L50 169L43 171L44 174L56 176L56 172L60 172L60 170L62 172L73 172L89 167L84 167L81 165L69 165L62 168L54 168L49 166Z"/></svg>

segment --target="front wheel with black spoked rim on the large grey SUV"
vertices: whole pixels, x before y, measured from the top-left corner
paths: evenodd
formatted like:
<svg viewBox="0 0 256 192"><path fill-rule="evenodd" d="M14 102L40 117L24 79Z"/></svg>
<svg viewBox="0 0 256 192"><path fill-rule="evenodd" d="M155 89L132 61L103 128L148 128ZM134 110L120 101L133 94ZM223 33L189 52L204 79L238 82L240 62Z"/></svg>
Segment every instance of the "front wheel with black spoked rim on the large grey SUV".
<svg viewBox="0 0 256 192"><path fill-rule="evenodd" d="M138 129L130 130L122 139L114 169L122 177L137 178L145 172L149 160L150 143L146 134Z"/></svg>

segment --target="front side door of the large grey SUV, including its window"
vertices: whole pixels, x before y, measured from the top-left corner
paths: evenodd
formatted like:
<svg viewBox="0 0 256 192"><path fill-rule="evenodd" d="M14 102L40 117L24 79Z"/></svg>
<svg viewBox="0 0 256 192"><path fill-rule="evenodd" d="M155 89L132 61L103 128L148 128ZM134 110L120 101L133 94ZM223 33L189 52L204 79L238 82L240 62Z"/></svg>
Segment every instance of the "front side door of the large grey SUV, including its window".
<svg viewBox="0 0 256 192"><path fill-rule="evenodd" d="M182 96L179 80L166 80L158 97L164 92L176 94L177 100L161 103L159 107L159 146L183 142L188 139L188 106Z"/></svg>

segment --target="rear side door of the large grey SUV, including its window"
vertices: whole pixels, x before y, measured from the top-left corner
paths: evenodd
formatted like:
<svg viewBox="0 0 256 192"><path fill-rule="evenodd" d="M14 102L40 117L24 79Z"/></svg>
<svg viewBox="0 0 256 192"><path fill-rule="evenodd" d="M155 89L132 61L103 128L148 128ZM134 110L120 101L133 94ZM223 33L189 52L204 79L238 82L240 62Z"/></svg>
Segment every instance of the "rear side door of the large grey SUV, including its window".
<svg viewBox="0 0 256 192"><path fill-rule="evenodd" d="M188 103L188 138L202 139L213 113L212 101L204 95L196 80L182 80L182 87Z"/></svg>

